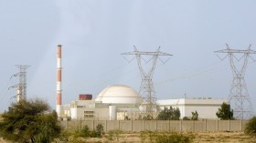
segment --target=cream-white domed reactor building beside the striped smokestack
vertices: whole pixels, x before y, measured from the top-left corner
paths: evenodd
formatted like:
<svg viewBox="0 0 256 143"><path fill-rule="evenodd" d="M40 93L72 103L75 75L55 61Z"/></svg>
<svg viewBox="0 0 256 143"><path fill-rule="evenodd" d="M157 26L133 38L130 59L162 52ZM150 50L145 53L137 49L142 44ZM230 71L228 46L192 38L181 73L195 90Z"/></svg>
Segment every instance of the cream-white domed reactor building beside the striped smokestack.
<svg viewBox="0 0 256 143"><path fill-rule="evenodd" d="M64 117L71 119L124 120L139 113L142 97L132 87L106 87L95 100L76 100L63 106Z"/></svg>

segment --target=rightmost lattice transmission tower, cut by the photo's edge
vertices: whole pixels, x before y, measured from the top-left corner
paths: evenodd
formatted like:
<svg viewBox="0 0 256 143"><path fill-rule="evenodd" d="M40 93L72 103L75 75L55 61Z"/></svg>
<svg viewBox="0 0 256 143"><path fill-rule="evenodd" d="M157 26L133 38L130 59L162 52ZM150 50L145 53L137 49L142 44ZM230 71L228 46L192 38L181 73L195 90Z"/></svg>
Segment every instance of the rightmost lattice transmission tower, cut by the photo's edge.
<svg viewBox="0 0 256 143"><path fill-rule="evenodd" d="M248 65L250 55L256 54L256 51L251 50L251 45L247 50L231 49L227 45L227 49L215 51L215 53L227 54L221 60L229 56L229 63L233 73L233 80L229 90L229 105L233 108L234 117L238 119L248 119L252 117L253 109L251 99L246 87L244 75Z"/></svg>

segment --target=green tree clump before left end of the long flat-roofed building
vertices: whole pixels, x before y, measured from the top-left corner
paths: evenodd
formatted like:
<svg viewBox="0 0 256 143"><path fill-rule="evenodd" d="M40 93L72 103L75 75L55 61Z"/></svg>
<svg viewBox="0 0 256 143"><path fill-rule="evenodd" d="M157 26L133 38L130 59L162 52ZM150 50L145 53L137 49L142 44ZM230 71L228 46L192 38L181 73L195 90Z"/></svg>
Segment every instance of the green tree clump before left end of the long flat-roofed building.
<svg viewBox="0 0 256 143"><path fill-rule="evenodd" d="M156 118L159 120L179 120L179 117L180 111L178 107L165 107L164 110L162 110Z"/></svg>

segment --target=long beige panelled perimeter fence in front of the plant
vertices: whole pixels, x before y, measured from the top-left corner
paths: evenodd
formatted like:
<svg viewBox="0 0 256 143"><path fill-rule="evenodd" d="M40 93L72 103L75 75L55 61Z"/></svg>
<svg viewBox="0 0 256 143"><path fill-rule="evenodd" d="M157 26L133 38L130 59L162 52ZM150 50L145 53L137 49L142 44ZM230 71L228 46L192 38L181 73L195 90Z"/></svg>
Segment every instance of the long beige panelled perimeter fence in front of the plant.
<svg viewBox="0 0 256 143"><path fill-rule="evenodd" d="M61 121L67 130L81 129L87 125L91 130L101 124L105 131L242 131L247 120L71 120Z"/></svg>

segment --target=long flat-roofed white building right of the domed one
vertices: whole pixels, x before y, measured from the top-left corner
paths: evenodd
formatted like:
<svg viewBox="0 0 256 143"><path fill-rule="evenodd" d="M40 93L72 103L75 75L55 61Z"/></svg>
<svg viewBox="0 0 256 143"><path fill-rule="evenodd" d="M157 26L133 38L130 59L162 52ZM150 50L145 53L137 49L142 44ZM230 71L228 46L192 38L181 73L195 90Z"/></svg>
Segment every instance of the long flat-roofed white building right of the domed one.
<svg viewBox="0 0 256 143"><path fill-rule="evenodd" d="M226 99L212 99L211 97L180 98L157 100L157 105L164 107L178 107L180 117L192 117L192 112L197 111L199 118L216 119L219 107L227 102Z"/></svg>

